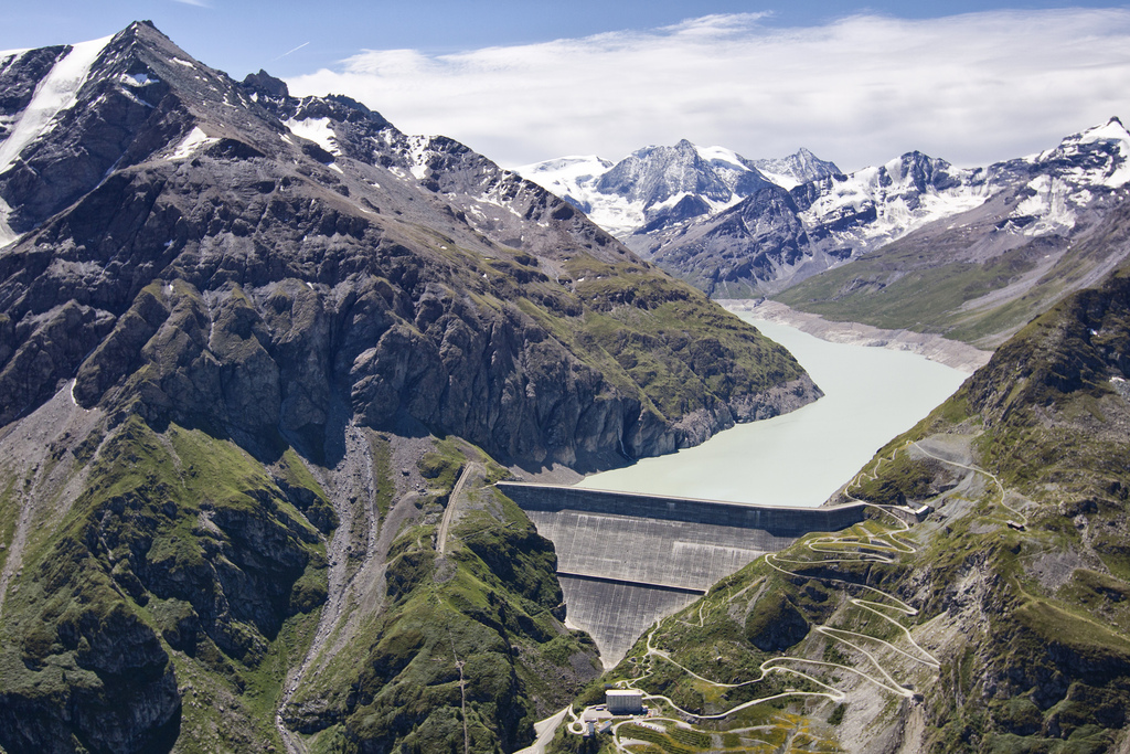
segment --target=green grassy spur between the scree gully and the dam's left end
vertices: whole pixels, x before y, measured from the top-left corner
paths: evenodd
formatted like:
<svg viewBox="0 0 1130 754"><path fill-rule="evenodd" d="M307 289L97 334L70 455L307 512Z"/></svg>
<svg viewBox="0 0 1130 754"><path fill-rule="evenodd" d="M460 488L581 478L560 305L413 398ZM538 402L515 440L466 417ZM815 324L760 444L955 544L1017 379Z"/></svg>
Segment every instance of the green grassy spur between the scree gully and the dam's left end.
<svg viewBox="0 0 1130 754"><path fill-rule="evenodd" d="M437 520L471 461L486 473L464 487L443 556ZM453 439L419 467L431 492L389 551L384 606L360 616L358 639L293 700L295 710L319 709L316 719L294 717L311 751L461 751L464 735L475 752L513 751L597 674L592 642L555 617L563 596L551 545L484 486L505 469Z"/></svg>

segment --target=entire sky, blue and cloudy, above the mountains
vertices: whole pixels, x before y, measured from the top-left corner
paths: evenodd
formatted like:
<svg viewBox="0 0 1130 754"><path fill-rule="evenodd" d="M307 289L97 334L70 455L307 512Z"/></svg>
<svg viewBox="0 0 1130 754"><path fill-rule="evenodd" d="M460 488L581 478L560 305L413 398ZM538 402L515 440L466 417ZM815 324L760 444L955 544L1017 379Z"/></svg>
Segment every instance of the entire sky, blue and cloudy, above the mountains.
<svg viewBox="0 0 1130 754"><path fill-rule="evenodd" d="M1130 118L1130 6L734 0L102 0L6 10L0 50L149 18L202 62L354 96L505 165L689 138L853 170L963 165ZM1128 121L1130 122L1130 121Z"/></svg>

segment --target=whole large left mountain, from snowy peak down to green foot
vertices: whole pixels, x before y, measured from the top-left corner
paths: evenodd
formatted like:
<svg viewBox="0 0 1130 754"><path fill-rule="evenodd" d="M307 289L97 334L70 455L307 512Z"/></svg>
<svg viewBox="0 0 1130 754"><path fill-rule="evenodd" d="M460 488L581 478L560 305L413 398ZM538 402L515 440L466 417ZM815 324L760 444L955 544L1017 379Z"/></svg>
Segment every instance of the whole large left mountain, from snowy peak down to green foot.
<svg viewBox="0 0 1130 754"><path fill-rule="evenodd" d="M596 666L495 461L818 395L544 189L146 23L0 59L0 128L8 752L520 747Z"/></svg>

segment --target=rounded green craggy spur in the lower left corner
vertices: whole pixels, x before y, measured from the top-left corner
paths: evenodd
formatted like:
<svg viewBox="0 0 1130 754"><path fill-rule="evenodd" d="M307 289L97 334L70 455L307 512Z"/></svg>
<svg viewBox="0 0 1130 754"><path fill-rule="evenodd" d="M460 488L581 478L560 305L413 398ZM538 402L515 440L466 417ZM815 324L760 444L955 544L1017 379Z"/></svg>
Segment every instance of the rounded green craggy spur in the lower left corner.
<svg viewBox="0 0 1130 754"><path fill-rule="evenodd" d="M88 709L94 727L47 723L85 740L158 745L175 726L199 746L184 751L279 743L271 711L325 598L324 547L246 453L130 418L62 525L31 539L23 562L5 606L0 662L10 671L0 693L27 700L44 721L60 705ZM115 645L133 649L121 656ZM191 691L182 697L179 687ZM168 722L120 729L111 710L123 704Z"/></svg>

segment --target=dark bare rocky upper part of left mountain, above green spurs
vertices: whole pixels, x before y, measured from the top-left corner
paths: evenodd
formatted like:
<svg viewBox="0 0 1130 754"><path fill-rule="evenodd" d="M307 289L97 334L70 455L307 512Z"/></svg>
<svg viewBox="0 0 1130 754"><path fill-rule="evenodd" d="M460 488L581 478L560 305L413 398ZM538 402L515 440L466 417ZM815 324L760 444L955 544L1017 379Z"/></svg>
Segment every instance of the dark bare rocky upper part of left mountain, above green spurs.
<svg viewBox="0 0 1130 754"><path fill-rule="evenodd" d="M321 453L331 416L407 415L511 461L574 463L699 442L750 418L742 396L803 380L461 145L266 76L235 84L145 25L90 66L89 106L58 113L0 181L24 233L0 258L0 421L75 375L85 407L247 443ZM723 379L696 371L704 318L736 367ZM692 324L669 338L664 319ZM643 350L673 395L632 374Z"/></svg>

